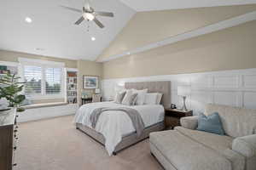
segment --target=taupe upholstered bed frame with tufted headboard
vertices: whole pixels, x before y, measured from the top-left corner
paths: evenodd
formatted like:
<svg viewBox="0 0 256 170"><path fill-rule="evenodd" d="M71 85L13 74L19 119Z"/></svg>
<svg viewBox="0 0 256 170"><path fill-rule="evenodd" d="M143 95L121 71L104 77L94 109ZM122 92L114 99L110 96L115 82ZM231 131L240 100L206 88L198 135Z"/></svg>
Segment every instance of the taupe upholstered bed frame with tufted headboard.
<svg viewBox="0 0 256 170"><path fill-rule="evenodd" d="M171 105L171 82L125 82L126 89L145 89L148 88L148 93L161 93L163 94L161 99L161 105L164 107L170 107ZM81 123L76 123L76 128L80 131L89 135L92 139L95 139L100 144L105 144L105 138L101 133L96 132L96 130L84 126ZM156 123L150 127L146 127L143 131L143 134L137 138L137 133L130 133L122 138L122 141L115 147L113 151L113 155L116 155L120 150L124 150L125 148L137 144L143 139L147 139L149 133L163 130L165 128L165 122Z"/></svg>

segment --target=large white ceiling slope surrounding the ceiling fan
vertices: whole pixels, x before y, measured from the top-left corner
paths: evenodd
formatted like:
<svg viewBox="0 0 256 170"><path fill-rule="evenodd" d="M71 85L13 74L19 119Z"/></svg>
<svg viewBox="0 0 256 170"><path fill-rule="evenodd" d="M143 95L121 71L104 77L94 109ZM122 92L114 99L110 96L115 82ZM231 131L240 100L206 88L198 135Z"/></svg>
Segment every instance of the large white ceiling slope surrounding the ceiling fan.
<svg viewBox="0 0 256 170"><path fill-rule="evenodd" d="M135 11L119 0L93 0L96 10L111 11L115 16L98 17L106 27L100 29L90 22L88 32L86 22L73 25L81 16L79 13L60 8L81 8L83 3L84 0L1 0L0 49L67 59L96 59ZM26 23L26 17L32 18L32 23ZM92 42L91 36L96 41Z"/></svg>

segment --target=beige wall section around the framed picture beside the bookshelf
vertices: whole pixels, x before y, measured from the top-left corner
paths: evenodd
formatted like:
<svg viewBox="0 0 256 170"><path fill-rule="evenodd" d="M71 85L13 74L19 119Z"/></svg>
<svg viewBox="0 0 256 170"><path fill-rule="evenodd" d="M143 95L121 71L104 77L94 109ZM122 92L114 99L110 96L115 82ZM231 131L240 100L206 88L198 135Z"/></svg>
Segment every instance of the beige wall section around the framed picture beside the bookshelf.
<svg viewBox="0 0 256 170"><path fill-rule="evenodd" d="M88 90L83 88L83 76L97 76L99 77L99 82L102 80L102 63L96 63L95 61L89 60L78 60L79 69L79 87L78 87L78 101L81 104L81 94L83 91L94 93L94 90ZM100 88L100 87L99 87Z"/></svg>

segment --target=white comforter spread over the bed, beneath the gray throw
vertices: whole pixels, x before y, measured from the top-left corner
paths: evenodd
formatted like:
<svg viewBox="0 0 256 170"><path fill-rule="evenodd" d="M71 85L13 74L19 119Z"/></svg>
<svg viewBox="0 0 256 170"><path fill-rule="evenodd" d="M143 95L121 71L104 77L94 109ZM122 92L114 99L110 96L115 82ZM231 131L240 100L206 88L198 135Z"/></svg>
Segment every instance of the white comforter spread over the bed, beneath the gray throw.
<svg viewBox="0 0 256 170"><path fill-rule="evenodd" d="M164 107L162 105L133 105L126 106L113 102L100 102L82 105L77 111L74 122L82 123L87 127L91 127L90 114L98 107L131 107L137 110L142 118L145 127L151 126L157 122L164 120ZM108 150L109 156L122 137L135 132L131 119L123 111L105 111L99 117L96 123L96 132L102 133L105 137L105 148Z"/></svg>

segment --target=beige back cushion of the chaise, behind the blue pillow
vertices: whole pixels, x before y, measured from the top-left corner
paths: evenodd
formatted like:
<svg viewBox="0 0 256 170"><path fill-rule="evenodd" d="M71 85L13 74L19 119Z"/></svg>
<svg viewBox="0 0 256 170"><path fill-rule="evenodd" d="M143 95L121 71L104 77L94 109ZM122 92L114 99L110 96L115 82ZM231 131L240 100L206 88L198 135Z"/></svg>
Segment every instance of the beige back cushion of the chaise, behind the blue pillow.
<svg viewBox="0 0 256 170"><path fill-rule="evenodd" d="M231 137L247 136L255 133L256 110L241 109L227 105L206 106L205 115L218 112L224 132Z"/></svg>

